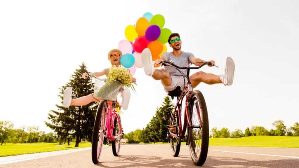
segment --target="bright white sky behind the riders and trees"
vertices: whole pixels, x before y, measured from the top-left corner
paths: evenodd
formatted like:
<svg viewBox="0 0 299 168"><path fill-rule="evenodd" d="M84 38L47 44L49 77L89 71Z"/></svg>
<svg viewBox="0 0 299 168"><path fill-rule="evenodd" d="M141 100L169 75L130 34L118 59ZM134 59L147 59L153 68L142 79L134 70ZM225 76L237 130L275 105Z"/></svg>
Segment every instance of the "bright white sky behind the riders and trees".
<svg viewBox="0 0 299 168"><path fill-rule="evenodd" d="M271 129L275 120L289 128L299 121L298 7L295 0L1 1L0 120L50 132L43 122L60 103L58 88L83 61L93 72L109 67L107 53L125 39L126 26L151 12L164 16L164 28L180 33L183 51L221 68L226 56L234 59L232 86L195 88L204 94L210 129ZM137 95L131 92L121 116L125 133L144 128L166 95L142 68L134 77Z"/></svg>

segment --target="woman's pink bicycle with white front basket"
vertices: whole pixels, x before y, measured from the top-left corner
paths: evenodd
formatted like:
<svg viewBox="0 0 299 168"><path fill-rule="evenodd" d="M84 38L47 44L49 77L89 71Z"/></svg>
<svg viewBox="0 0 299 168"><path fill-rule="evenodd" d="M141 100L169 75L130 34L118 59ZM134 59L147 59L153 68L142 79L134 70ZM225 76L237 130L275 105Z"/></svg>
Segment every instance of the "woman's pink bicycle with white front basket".
<svg viewBox="0 0 299 168"><path fill-rule="evenodd" d="M106 82L105 78L98 78L92 73L87 77L91 79L91 75L95 77L94 87L91 88L96 93ZM91 158L94 164L100 162L100 156L103 149L104 139L107 144L111 141L112 152L114 156L118 156L120 151L120 140L122 138L122 127L120 115L116 112L118 106L115 103L118 87L108 97L104 97L97 107L97 114L94 120L94 128L92 132ZM96 97L95 97L96 99Z"/></svg>

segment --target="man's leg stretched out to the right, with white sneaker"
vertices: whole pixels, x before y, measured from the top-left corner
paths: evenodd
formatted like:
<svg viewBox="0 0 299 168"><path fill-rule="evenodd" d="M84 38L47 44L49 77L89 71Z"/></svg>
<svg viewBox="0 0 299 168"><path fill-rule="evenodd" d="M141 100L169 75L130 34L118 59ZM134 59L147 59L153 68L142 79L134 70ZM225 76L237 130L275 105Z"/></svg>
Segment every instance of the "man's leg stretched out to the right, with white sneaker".
<svg viewBox="0 0 299 168"><path fill-rule="evenodd" d="M216 83L223 83L224 85L232 85L234 81L235 64L231 57L225 60L223 72L221 75L208 74L199 71L190 77L192 87L195 88L200 82L213 85Z"/></svg>

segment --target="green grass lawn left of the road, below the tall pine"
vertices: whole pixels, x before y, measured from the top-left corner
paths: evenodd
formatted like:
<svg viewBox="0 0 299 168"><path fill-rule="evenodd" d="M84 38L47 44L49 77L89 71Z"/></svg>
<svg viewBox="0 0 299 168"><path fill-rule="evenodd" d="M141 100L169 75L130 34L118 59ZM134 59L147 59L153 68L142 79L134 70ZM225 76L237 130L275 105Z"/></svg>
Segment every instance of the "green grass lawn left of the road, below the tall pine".
<svg viewBox="0 0 299 168"><path fill-rule="evenodd" d="M75 143L71 143L70 146L67 143L62 146L57 145L59 143L6 143L6 145L0 145L0 157L91 147L89 142L79 143L79 147L74 147Z"/></svg>

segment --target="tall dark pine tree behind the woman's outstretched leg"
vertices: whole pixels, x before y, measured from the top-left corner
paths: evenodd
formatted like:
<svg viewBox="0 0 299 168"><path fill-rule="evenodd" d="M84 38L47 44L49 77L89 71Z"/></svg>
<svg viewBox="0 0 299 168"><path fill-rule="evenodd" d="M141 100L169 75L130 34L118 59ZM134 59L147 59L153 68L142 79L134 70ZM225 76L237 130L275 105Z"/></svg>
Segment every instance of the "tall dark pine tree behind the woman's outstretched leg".
<svg viewBox="0 0 299 168"><path fill-rule="evenodd" d="M97 106L95 102L89 103L85 106L70 106L65 108L63 106L63 91L66 87L71 86L72 98L78 98L93 93L91 89L91 81L89 79L81 78L82 74L87 71L87 67L82 63L79 69L76 69L74 74L71 75L70 81L60 88L61 104L55 105L58 112L51 110L48 114L48 119L51 123L45 122L46 126L50 127L57 133L60 144L68 142L72 138L76 138L75 147L79 146L82 139L91 141L92 129L94 124L94 117L96 114Z"/></svg>

